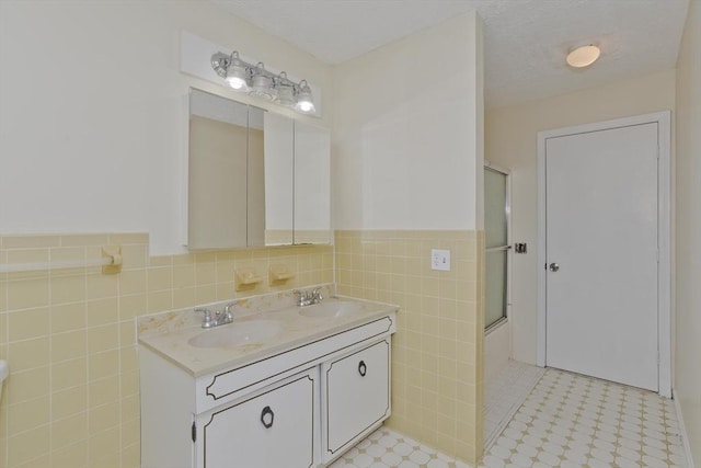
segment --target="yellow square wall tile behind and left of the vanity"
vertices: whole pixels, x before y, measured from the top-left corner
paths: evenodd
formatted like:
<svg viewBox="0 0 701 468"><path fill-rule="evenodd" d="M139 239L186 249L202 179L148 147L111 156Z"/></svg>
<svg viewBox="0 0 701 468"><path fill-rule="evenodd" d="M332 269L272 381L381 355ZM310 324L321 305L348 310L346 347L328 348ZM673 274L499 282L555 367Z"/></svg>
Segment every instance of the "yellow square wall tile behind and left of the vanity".
<svg viewBox="0 0 701 468"><path fill-rule="evenodd" d="M333 281L331 247L150 256L146 235L0 236L0 262L101 256L123 270L0 275L0 468L137 468L139 381L135 317ZM285 264L294 279L234 292L234 271Z"/></svg>

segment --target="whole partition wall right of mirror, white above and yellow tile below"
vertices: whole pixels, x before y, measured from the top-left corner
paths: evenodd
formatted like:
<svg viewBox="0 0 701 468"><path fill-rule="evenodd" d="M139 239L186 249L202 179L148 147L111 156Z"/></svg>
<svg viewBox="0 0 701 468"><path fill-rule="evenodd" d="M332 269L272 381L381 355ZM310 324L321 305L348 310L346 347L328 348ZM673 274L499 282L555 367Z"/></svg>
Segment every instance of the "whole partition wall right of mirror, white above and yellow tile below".
<svg viewBox="0 0 701 468"><path fill-rule="evenodd" d="M430 64L437 64L436 67ZM481 22L466 14L334 70L336 283L400 306L389 425L482 455ZM452 270L430 270L432 249Z"/></svg>

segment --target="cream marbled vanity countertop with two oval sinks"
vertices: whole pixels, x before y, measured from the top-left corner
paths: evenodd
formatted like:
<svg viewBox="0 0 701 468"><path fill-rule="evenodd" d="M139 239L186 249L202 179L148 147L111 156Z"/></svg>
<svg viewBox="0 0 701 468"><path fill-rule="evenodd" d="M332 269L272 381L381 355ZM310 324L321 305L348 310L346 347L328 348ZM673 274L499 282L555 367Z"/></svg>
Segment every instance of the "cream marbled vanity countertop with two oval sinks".
<svg viewBox="0 0 701 468"><path fill-rule="evenodd" d="M138 341L198 377L274 356L355 329L397 311L390 304L330 297L298 307L291 293L239 301L233 322L203 329L193 309L138 319ZM221 304L208 307L221 307Z"/></svg>

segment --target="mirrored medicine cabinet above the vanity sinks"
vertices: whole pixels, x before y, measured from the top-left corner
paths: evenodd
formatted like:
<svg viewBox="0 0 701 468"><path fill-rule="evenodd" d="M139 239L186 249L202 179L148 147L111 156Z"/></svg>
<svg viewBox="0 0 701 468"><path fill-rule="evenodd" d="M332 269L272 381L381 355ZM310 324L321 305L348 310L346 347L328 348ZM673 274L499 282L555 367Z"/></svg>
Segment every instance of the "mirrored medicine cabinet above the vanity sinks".
<svg viewBox="0 0 701 468"><path fill-rule="evenodd" d="M329 130L189 92L187 247L331 242Z"/></svg>

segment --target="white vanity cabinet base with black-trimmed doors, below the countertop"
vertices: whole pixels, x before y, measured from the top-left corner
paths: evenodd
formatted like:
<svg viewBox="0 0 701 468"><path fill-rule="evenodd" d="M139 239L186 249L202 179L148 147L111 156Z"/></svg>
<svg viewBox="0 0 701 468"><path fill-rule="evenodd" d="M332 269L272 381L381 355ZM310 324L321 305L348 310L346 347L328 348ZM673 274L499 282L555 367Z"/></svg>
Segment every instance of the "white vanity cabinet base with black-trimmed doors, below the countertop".
<svg viewBox="0 0 701 468"><path fill-rule="evenodd" d="M395 330L391 311L199 374L141 340L141 467L327 466L389 418Z"/></svg>

